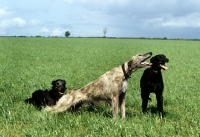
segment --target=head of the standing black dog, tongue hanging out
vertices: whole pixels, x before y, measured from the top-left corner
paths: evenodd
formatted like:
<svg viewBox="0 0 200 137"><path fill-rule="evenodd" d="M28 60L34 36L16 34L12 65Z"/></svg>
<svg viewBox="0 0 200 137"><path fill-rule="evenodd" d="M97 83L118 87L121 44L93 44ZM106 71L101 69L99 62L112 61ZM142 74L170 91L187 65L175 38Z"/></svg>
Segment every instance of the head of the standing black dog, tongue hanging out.
<svg viewBox="0 0 200 137"><path fill-rule="evenodd" d="M169 62L169 59L163 55L158 54L150 59L151 67L153 70L167 70L168 67L165 66L165 63Z"/></svg>

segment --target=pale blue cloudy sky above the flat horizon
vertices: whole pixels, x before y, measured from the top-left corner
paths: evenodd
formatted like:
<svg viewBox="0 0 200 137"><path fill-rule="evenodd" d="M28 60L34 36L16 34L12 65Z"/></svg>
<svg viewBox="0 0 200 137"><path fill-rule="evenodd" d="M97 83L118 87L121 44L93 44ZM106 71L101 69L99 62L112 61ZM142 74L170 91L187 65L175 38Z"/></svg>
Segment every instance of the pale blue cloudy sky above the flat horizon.
<svg viewBox="0 0 200 137"><path fill-rule="evenodd" d="M200 39L200 0L1 0L0 36Z"/></svg>

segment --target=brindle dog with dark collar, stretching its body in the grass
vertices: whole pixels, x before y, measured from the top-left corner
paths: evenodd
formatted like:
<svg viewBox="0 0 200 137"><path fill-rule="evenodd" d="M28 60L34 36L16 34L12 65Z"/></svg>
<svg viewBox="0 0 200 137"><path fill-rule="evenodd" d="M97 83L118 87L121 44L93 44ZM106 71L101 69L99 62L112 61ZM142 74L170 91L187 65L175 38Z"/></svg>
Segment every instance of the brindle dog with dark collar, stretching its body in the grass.
<svg viewBox="0 0 200 137"><path fill-rule="evenodd" d="M125 118L127 80L130 78L132 72L148 65L144 61L151 57L151 55L152 53L149 52L133 56L130 61L107 71L100 78L83 88L69 91L55 106L47 106L46 110L50 112L62 112L80 102L97 102L103 100L111 102L114 118L118 115L118 105L121 108L122 118Z"/></svg>

